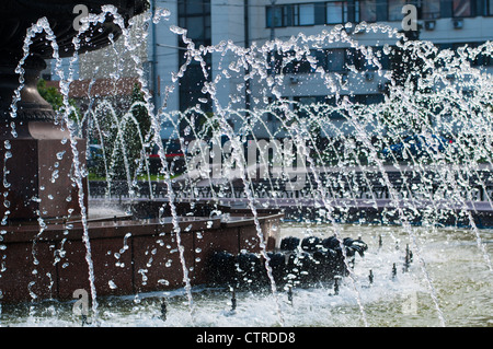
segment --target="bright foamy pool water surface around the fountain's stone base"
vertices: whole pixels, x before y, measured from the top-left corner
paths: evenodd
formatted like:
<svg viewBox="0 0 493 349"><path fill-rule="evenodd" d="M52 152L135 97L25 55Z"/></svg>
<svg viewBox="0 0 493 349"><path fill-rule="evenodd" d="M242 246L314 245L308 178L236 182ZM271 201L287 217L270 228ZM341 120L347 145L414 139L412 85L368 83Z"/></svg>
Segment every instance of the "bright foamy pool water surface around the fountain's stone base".
<svg viewBox="0 0 493 349"><path fill-rule="evenodd" d="M279 292L286 326L364 326L360 300L369 326L440 326L419 260L404 272L409 243L399 226L341 225L344 236L368 243L365 257L356 259L352 278L345 278L339 294L331 284L295 289L293 303ZM421 257L425 261L438 304L448 326L493 326L492 275L475 244L475 236L459 229L414 228ZM331 234L325 225L285 223L284 235ZM493 236L481 231L488 253ZM381 239L380 239L381 236ZM381 247L379 246L381 241ZM416 259L416 258L414 258ZM395 264L397 276L392 277ZM372 274L372 282L369 279ZM353 282L354 280L354 282ZM161 304L165 300L165 321ZM99 298L101 326L278 326L273 295L237 292L231 311L228 290L194 288L195 311L190 312L184 290L152 292L131 296ZM73 302L44 301L2 305L2 326L81 326L72 313ZM89 316L88 322L91 322ZM91 325L95 325L92 323Z"/></svg>

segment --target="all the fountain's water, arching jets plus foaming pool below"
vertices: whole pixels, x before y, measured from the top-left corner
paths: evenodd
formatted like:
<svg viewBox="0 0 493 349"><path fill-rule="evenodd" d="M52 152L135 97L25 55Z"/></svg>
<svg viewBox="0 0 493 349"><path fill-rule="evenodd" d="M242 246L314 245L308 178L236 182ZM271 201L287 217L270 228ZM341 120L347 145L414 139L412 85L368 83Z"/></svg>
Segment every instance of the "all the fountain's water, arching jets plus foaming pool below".
<svg viewBox="0 0 493 349"><path fill-rule="evenodd" d="M90 23L103 21L107 13L123 30L121 39L125 40L125 54L131 57L144 96L123 113L108 101L94 101L83 116L71 119L70 113L74 109L69 104L68 91L73 75L66 77L59 67L56 39L49 24L39 20L31 33L44 31L54 49L65 105L59 121L70 130L70 139L66 141L73 144L73 179L80 193L83 194L82 182L90 168L81 168L74 144L77 137L90 136L102 146L100 165L104 165L101 172L105 178L101 182L105 183L105 202L117 207L122 197L170 202L176 252L183 266L183 289L99 298L92 287L94 324L492 325L492 237L490 230L479 226L475 217L481 210L493 210L493 94L491 74L473 65L479 57L492 56L490 42L452 53L438 50L432 43L408 40L390 27L362 23L353 33L379 32L394 38L395 45L383 45L381 50L374 50L359 44L357 36L347 34L343 26L335 26L319 35L300 34L284 42L254 44L249 49L232 42L196 47L185 30L171 26L171 32L182 38L186 51L185 63L173 74L165 95L176 93L176 83L183 79L186 69L198 62L205 79L204 98L199 102L210 103L214 112L206 113L199 105L185 112L169 110L164 101L154 113L142 62L135 54L138 44L131 40L129 28L115 9L104 7L103 14L89 16L80 33L87 31ZM144 22L158 24L168 15L164 10L153 16L146 13ZM148 33L144 33L145 39ZM77 37L73 44L77 47ZM352 48L355 60L347 67L347 73L329 73L314 54L318 49L341 44ZM26 56L28 46L27 38ZM213 60L211 69L206 63L207 55L218 58ZM401 63L400 69L405 69L404 72L394 75L382 69L383 56L400 56L402 61L414 63ZM76 54L70 60L70 71L77 60ZM357 61L376 67L372 71L385 79L386 92L379 103L368 105L354 98L348 80L354 83L365 79L368 72L357 69ZM321 82L319 94L328 98L302 104L285 97L289 67L301 63L310 66L310 79ZM18 71L21 75L19 91L23 88L22 66L23 61ZM225 81L227 84L234 81L238 91L227 103L219 97ZM250 109L244 109L246 94L253 101ZM12 118L15 118L16 102L14 98L12 103ZM137 107L147 110L150 127L144 133L135 132L141 151L130 159L125 130L138 124L133 114ZM276 121L277 128L272 129L272 120ZM167 148L161 139L164 121L174 126L176 140L185 154L181 171L172 170L167 162ZM82 131L88 133L82 135ZM12 133L15 133L13 126ZM10 149L10 144L4 147ZM149 173L147 155L152 148L161 162L158 181L151 181ZM5 168L9 161L4 160ZM8 178L3 179L8 193ZM124 183L126 189L114 191L112 188L117 183ZM142 194L142 188L148 188L148 193ZM174 207L184 199L216 200L252 211L261 254L267 260L268 290L237 292L238 305L231 311L228 290L191 286L190 266L185 263ZM79 203L82 222L85 222L88 208L83 196ZM345 236L356 239L360 235L369 245L368 252L365 257L356 258L354 269L346 259L349 274L341 280L337 290L334 284L295 288L291 302L286 290L279 290L275 284L266 244L262 241L257 210L267 208L285 210L286 221L280 228L285 236L335 235L342 244ZM374 209L377 213L355 216L355 208L366 208L365 212ZM374 224L367 224L369 221ZM38 236L43 235L44 226L39 219ZM87 261L91 266L90 236L87 230L84 234ZM413 251L414 258L409 269L402 272L406 246ZM9 248L2 248L1 253L8 254ZM397 271L392 271L393 266ZM2 265L2 268L9 266ZM89 272L92 280L91 267ZM165 319L160 311L163 299L168 309ZM78 326L80 318L72 313L72 303L37 301L34 295L28 304L2 305L0 323Z"/></svg>

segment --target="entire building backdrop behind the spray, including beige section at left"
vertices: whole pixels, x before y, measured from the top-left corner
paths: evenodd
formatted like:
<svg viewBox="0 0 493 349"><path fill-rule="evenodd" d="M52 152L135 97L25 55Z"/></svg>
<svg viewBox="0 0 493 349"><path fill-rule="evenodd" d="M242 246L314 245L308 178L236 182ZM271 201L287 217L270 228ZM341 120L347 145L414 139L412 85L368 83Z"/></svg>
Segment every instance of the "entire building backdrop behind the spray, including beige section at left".
<svg viewBox="0 0 493 349"><path fill-rule="evenodd" d="M275 49L271 53L265 45L274 39L288 43L299 33L317 37L336 25L360 22L401 30L405 4L416 9L419 38L440 48L475 46L493 38L493 0L150 0L150 4L156 13L159 9L168 9L169 15L148 22L148 27L142 19L136 19L131 37L138 44L135 53L142 62L154 112L167 113L162 123L164 139L176 138L182 131L176 128L177 120L172 119L172 110L183 112L194 106L208 113L228 107L253 109L278 98L298 104L332 103L334 91L326 83L328 77L343 79L346 88L339 92L349 95L353 101L363 104L382 101L386 75L376 73L377 67L362 59L351 47L351 42L332 39L318 45L312 42L309 49L316 60L313 65L307 61L306 55L293 59L296 51L288 49L280 54ZM196 49L200 46L217 49L202 55L202 59L187 61L190 44L183 40L176 27L187 30L186 37ZM392 69L392 60L381 53L386 45L395 45L395 37L389 37L383 31L352 34L347 30L347 34L358 45L380 53L382 71ZM295 42L298 49L305 49L302 38ZM249 48L255 49L256 57L251 57L250 66L244 66L242 57L248 56ZM288 63L283 63L286 56L291 58ZM263 67L264 73L259 73L262 67L253 68L259 61L268 66ZM65 59L62 66L67 68L68 63ZM177 75L184 65L186 70ZM493 70L491 57L474 65ZM324 78L320 69L325 73ZM138 82L134 59L122 39L116 40L115 46L81 55L74 72L78 73L74 78L80 81L73 83L73 96L79 98L88 94L84 86L90 85L90 81L95 81L91 86L94 92L101 90L98 93L101 97L105 93L128 94L131 85ZM268 85L270 77L283 79L273 89ZM121 82L114 89L98 89L115 79ZM204 91L210 82L214 82L214 98L210 91ZM79 92L78 85L81 86ZM88 97L92 96L88 94ZM231 116L230 121L239 131L241 116ZM333 115L332 121L337 125L342 119ZM257 137L268 137L279 128L275 117L266 115L264 123L264 129L255 130Z"/></svg>

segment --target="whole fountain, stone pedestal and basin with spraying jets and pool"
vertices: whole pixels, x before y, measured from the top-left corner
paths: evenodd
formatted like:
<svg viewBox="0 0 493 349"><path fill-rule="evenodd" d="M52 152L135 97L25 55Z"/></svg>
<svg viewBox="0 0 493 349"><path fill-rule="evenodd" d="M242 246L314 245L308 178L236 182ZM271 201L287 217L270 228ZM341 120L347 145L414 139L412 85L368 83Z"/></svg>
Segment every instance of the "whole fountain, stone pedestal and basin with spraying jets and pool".
<svg viewBox="0 0 493 349"><path fill-rule="evenodd" d="M101 1L106 2L113 1ZM162 106L154 108L141 62L133 56L144 93L137 105L151 115L151 131L139 135L141 148L157 149L163 181L150 179L145 155L138 159L135 173L123 156L124 174L112 178L115 148L103 150L106 179L88 184L87 144L79 131L91 123L100 125L104 113L118 120L116 113L106 102L91 105L76 127L68 103L72 77L61 79L65 109L58 116L34 85L43 68L41 58L77 59L80 53L112 44L117 35L133 55L129 19L144 12L145 22L157 24L167 16L165 11L146 13L141 1L129 1L128 7L117 3L91 8L96 14L79 32L71 27L72 14L58 19L72 8L60 7L51 18L36 5L31 19L19 20L18 32L4 35L9 44L2 44L1 57L11 60L2 65L0 88L2 303L43 304L43 299L67 300L77 290L88 290L95 317L98 300L105 302L96 295L119 295L125 303L123 295L130 294L131 306L153 314L141 303L142 294L149 292L149 298L158 299L158 303L150 301L150 307L161 312L154 317L168 324L244 325L253 318L266 325L319 326L330 318L330 325L340 326L395 325L402 317L386 323L386 315L369 318L367 309L386 296L400 307L402 294L409 292L426 295L426 301L421 300L426 303L424 315L417 316L417 301L394 313L447 325L448 312L456 312L447 307L450 302L444 302L443 289L452 288L454 278L447 274L445 286L436 281L442 275L434 266L440 265L442 256L435 252L451 244L463 253L462 242L480 280L474 284L489 289L493 101L491 74L473 62L492 56L491 43L455 54L385 25L349 23L319 35L300 34L245 49L232 42L196 46L186 30L171 25L186 50ZM16 18L16 12L3 13L10 20ZM47 20L38 20L43 16ZM371 32L394 38L395 46L385 45L377 51L362 45L356 34ZM317 50L333 44L346 44L357 55L348 72L329 73L321 67ZM214 77L206 68L208 55L218 57L213 60ZM381 65L386 57L401 57L408 63L386 70ZM371 67L385 81L379 103L364 104L352 95L348 82L367 79L368 72L356 68L356 62ZM167 97L175 93L175 83L197 63L204 75L204 98L186 110L168 110ZM324 89L319 94L330 98L303 104L285 97L291 72L300 65L321 82ZM228 95L227 103L219 93L225 81L234 82L238 92ZM246 96L250 105L243 108ZM207 103L214 105L214 113L200 107ZM135 106L123 116L125 123L135 123ZM163 120L173 125L184 154L181 174L173 172L173 161L165 161L160 138ZM121 129L125 124L115 125L115 138L124 149ZM94 133L105 137L98 127ZM19 159L33 159L28 171ZM142 174L145 181L139 177ZM88 208L105 205L122 214L91 219ZM450 264L454 271L465 269L456 259ZM179 288L182 293L172 291ZM208 292L219 299L216 303L222 302L223 293L215 293L218 289L230 292L231 311L200 302ZM157 290L156 296L152 291ZM479 292L479 299L484 296L489 299ZM243 302L249 306L243 307ZM332 319L341 309L339 315L351 316ZM191 323L183 319L184 312L192 315ZM255 312L260 315L252 315ZM220 316L211 319L209 313ZM153 324L153 315L149 317Z"/></svg>

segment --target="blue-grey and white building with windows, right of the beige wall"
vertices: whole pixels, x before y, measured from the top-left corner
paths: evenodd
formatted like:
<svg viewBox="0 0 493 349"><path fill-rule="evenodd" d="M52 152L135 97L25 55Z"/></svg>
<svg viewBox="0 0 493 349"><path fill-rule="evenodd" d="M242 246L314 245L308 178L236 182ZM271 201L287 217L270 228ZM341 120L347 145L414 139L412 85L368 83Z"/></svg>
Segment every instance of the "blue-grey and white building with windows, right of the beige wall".
<svg viewBox="0 0 493 349"><path fill-rule="evenodd" d="M207 78L203 75L200 63L195 61L187 67L187 72L179 82L173 82L172 74L184 63L185 53L181 35L170 31L173 25L186 28L187 37L194 40L196 47L225 42L239 48L261 47L274 38L287 42L299 33L306 36L320 35L323 31L330 32L335 25L348 22L378 23L401 30L405 4L413 4L417 10L419 38L440 48L455 48L465 44L474 46L493 38L493 0L153 0L156 8L167 8L171 12L168 21L153 25L152 40L148 46L148 57L152 58L151 79L156 86L157 105L164 105L169 110L184 110L198 105L214 113L218 106L253 108L266 102L265 81L255 82L255 79L251 79L248 86L241 86L242 78L249 73L243 68L227 79L215 79L225 67L238 61L238 56L231 51L222 50L206 56L209 69ZM382 50L386 45L395 45L395 37L388 37L382 32L355 34L354 39L359 45L370 46L374 51ZM359 59L351 48L351 43L333 40L324 47L311 47L311 53L317 65L325 72L347 80L349 88L342 93L351 94L354 101L363 104L382 100L386 78L374 73L377 68ZM383 56L380 61L382 69L391 69L392 62ZM268 73L282 73L284 79L277 88L277 94L267 96L267 103L279 96L300 104L330 102L333 92L313 66L302 61L283 66L277 58L274 61ZM484 69L490 69L492 63L492 59L477 62ZM215 81L215 101L208 100L207 93L202 91L207 80ZM173 84L174 91L164 95L165 86ZM336 115L333 121L341 123ZM271 132L279 126L275 118L268 116L265 123ZM164 126L171 127L171 124ZM257 136L267 137L266 131L259 129Z"/></svg>

